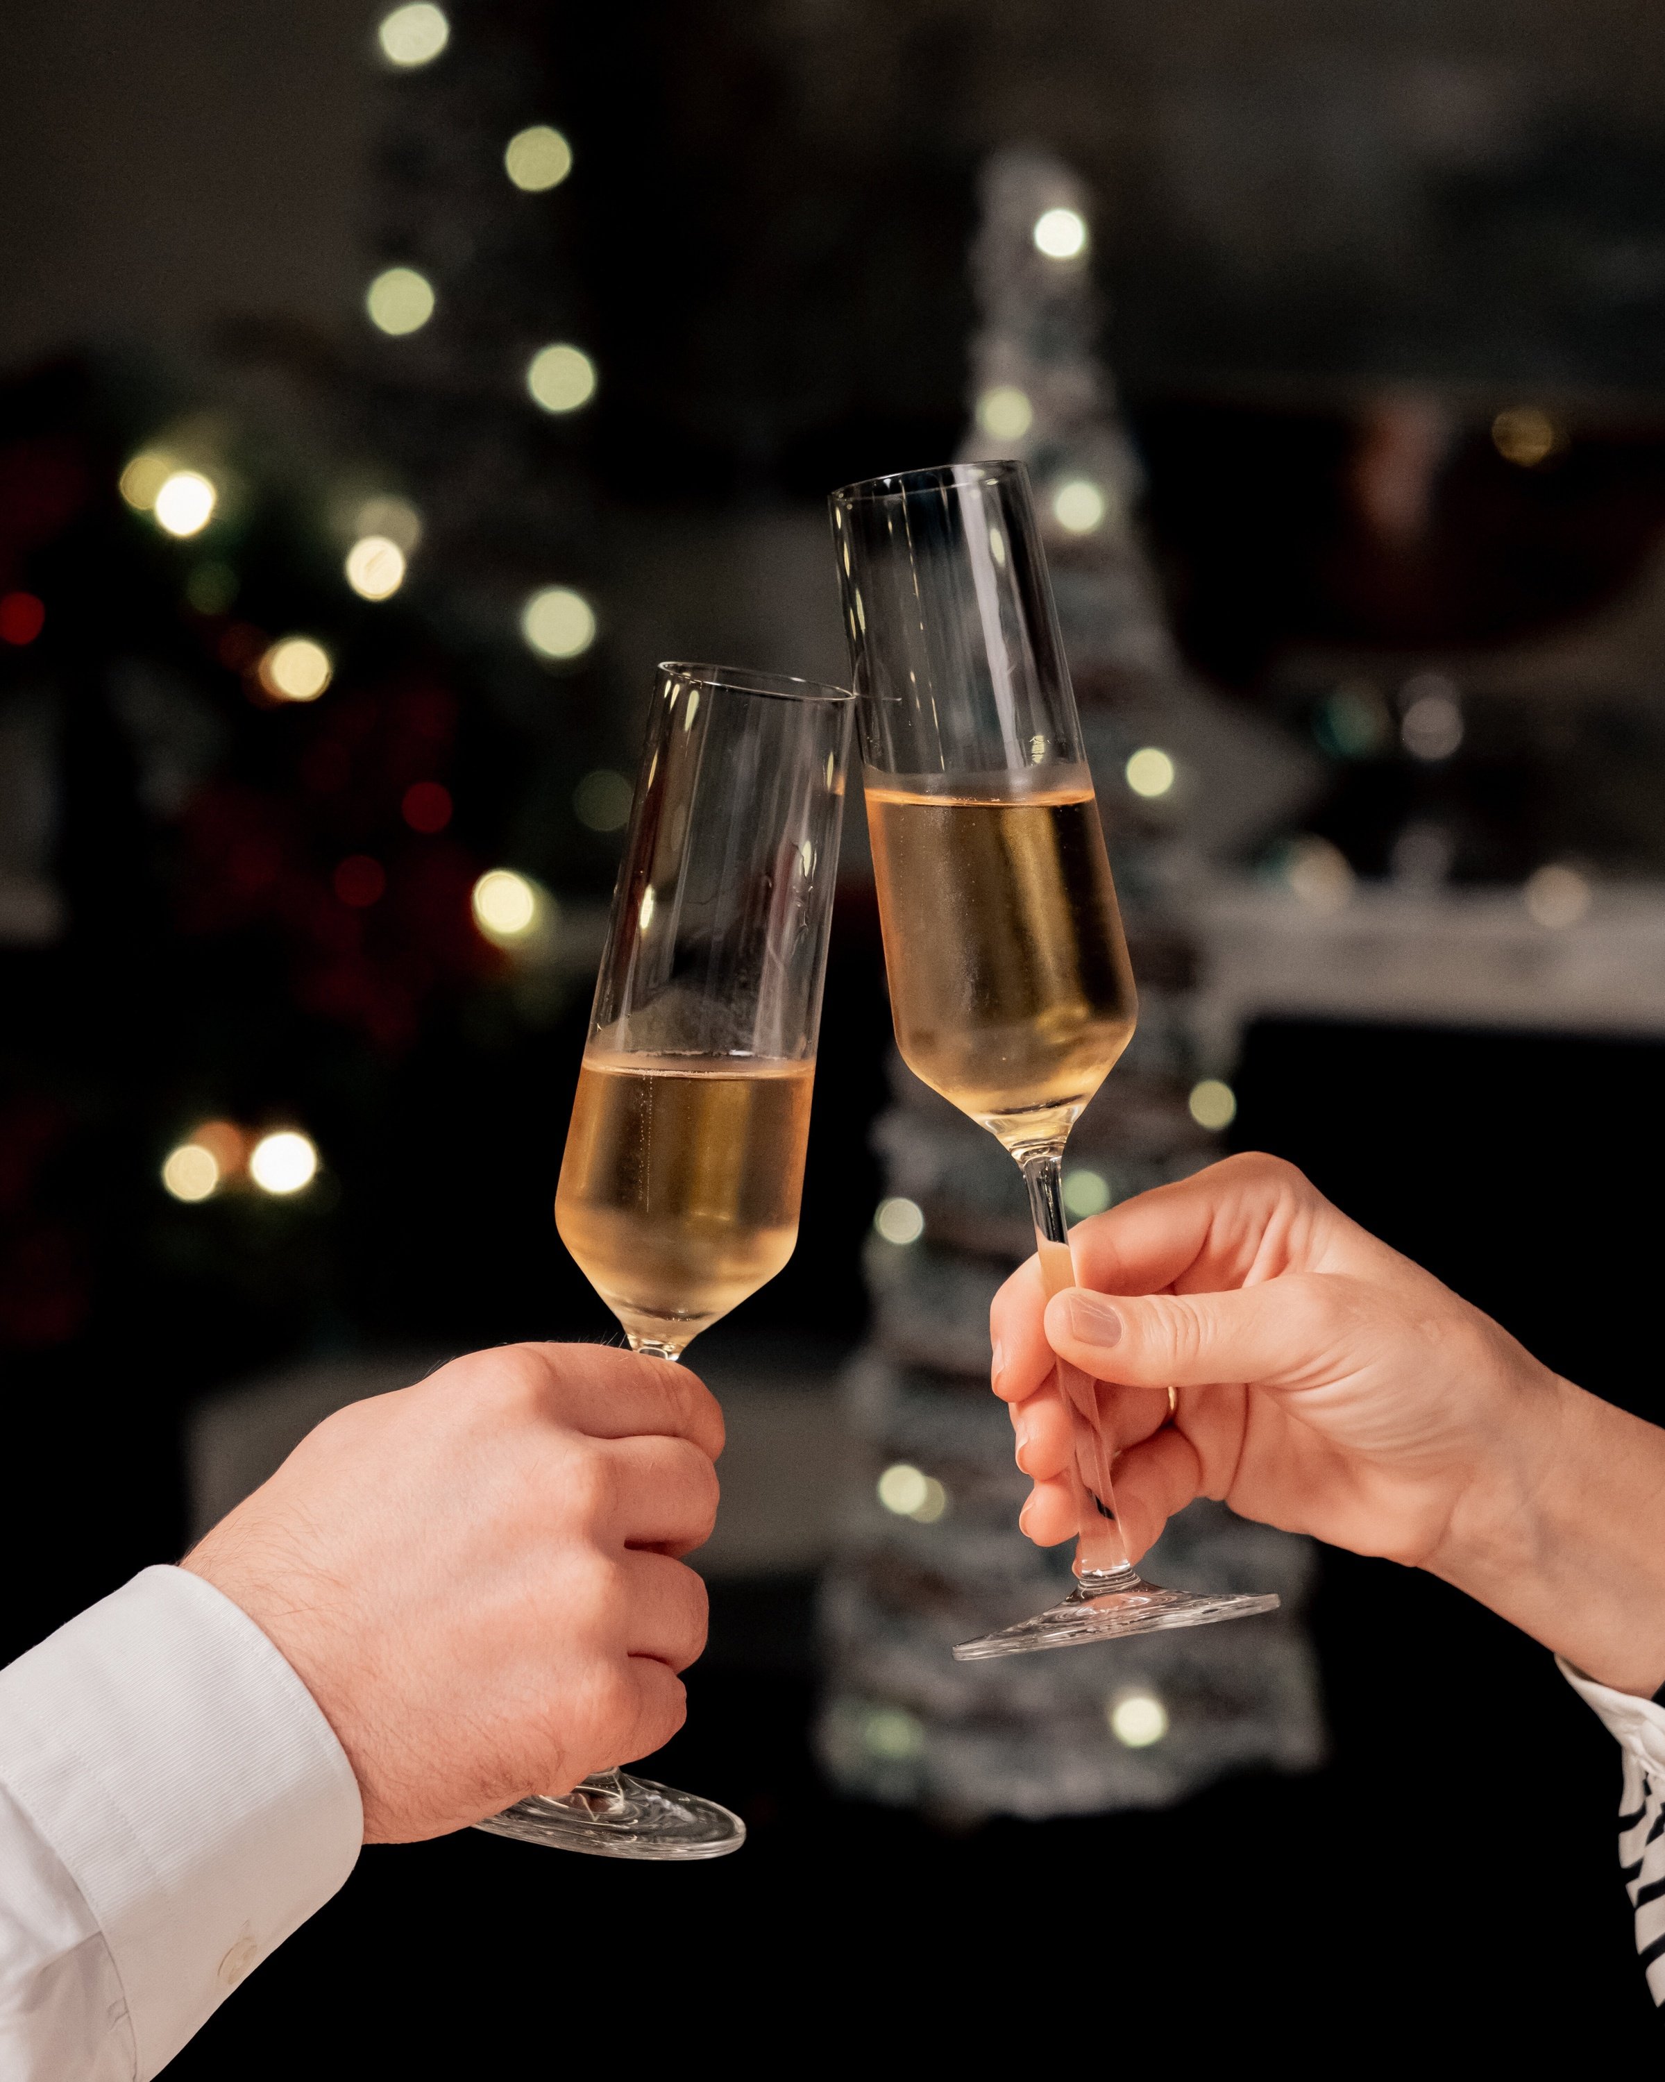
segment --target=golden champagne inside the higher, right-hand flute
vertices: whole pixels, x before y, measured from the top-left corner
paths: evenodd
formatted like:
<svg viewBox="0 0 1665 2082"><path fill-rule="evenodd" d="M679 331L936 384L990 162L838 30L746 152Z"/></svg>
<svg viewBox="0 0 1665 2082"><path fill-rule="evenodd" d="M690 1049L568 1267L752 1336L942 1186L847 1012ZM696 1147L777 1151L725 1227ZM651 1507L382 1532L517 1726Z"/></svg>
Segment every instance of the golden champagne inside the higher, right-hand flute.
<svg viewBox="0 0 1665 2082"><path fill-rule="evenodd" d="M868 777L897 1047L1007 1149L1061 1145L1136 1014L1093 781L953 787Z"/></svg>

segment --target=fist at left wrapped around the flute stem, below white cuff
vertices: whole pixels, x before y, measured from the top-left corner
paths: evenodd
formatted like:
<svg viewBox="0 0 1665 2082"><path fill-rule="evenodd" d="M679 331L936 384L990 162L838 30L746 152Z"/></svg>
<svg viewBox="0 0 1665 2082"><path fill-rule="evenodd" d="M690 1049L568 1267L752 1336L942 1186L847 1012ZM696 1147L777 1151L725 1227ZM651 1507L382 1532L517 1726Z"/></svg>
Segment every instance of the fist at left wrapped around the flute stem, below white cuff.
<svg viewBox="0 0 1665 2082"><path fill-rule="evenodd" d="M364 1840L439 1836L683 1726L720 1451L687 1368L506 1345L327 1418L183 1566L318 1701Z"/></svg>

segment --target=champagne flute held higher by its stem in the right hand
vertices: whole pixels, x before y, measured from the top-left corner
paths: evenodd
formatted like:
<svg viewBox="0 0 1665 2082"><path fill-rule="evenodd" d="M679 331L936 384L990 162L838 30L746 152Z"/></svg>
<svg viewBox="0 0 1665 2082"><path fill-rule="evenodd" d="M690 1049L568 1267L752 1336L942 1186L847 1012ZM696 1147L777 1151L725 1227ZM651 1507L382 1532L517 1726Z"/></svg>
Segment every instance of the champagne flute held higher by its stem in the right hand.
<svg viewBox="0 0 1665 2082"><path fill-rule="evenodd" d="M1047 1293L1074 1285L1064 1143L1134 1029L1134 985L1020 462L832 493L897 1047L1028 1187ZM962 1661L1207 1626L1276 1597L1145 1582L1116 1518L1097 1382L1059 1366L1074 1591ZM1172 1391L1170 1391L1172 1399Z"/></svg>

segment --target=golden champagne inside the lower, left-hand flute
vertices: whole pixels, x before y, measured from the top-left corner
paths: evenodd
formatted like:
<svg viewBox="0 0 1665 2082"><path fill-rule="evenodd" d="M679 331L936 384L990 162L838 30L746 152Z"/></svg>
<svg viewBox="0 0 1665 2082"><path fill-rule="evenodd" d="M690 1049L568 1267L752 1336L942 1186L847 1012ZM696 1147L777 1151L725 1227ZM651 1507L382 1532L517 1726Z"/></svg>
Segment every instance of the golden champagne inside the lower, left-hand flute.
<svg viewBox="0 0 1665 2082"><path fill-rule="evenodd" d="M591 1047L556 1228L631 1343L676 1351L793 1255L812 1062Z"/></svg>

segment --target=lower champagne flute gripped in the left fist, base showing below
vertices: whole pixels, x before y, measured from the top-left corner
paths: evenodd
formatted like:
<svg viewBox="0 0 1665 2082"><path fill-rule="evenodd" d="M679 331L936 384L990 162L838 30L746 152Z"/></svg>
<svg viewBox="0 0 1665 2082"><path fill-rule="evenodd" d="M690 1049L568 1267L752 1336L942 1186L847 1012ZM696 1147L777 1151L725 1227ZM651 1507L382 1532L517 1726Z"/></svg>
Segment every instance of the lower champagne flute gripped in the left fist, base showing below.
<svg viewBox="0 0 1665 2082"><path fill-rule="evenodd" d="M797 1243L853 702L662 664L556 1228L633 1351L689 1343ZM599 1857L722 1857L716 1801L626 1772L479 1828Z"/></svg>

